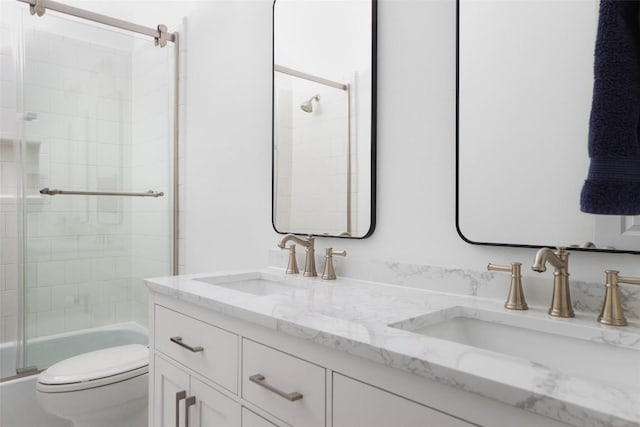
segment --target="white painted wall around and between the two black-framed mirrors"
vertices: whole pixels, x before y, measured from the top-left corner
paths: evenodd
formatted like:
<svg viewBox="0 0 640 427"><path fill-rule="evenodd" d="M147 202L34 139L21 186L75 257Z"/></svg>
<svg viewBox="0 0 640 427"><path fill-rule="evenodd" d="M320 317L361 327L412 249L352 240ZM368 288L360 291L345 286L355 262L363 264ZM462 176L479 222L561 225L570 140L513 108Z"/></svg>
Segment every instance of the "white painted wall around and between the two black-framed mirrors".
<svg viewBox="0 0 640 427"><path fill-rule="evenodd" d="M532 262L532 249L472 246L456 233L455 7L380 1L376 231L318 238L318 248L477 270ZM264 266L280 238L270 224L271 1L202 3L189 19L186 270ZM571 264L581 280L598 282L605 268L640 275L634 255L575 253Z"/></svg>

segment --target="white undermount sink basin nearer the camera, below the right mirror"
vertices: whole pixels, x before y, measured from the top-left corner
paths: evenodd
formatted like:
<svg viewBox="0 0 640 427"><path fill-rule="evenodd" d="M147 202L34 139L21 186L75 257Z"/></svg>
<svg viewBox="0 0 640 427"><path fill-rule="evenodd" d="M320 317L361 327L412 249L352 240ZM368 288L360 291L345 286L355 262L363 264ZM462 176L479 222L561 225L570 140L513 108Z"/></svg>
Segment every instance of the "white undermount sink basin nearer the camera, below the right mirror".
<svg viewBox="0 0 640 427"><path fill-rule="evenodd" d="M640 336L628 334L618 342L605 338L597 328L571 324L571 320L468 307L451 307L389 326L640 390Z"/></svg>

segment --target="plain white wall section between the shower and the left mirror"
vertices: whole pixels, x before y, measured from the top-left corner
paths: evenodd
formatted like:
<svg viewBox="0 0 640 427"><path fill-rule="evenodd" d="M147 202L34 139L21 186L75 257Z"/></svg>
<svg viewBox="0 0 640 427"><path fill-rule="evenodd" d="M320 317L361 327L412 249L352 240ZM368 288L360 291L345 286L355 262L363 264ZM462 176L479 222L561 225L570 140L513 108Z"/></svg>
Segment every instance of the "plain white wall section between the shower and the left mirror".
<svg viewBox="0 0 640 427"><path fill-rule="evenodd" d="M186 271L264 266L271 227L271 2L202 2L186 30Z"/></svg>

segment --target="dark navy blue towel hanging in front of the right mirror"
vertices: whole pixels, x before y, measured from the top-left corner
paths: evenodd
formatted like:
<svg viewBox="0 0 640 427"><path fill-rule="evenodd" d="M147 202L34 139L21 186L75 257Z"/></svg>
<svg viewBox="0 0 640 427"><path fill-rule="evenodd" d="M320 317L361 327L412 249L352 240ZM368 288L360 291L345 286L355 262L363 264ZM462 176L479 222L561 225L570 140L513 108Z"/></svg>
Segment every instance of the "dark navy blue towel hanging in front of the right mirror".
<svg viewBox="0 0 640 427"><path fill-rule="evenodd" d="M601 0L580 210L640 215L640 0Z"/></svg>

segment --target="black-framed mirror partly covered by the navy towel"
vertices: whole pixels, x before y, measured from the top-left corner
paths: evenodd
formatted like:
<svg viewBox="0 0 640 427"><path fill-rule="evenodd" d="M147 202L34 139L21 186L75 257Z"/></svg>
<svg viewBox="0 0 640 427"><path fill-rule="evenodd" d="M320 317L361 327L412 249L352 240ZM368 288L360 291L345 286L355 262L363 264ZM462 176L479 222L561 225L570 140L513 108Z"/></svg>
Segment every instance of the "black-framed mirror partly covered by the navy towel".
<svg viewBox="0 0 640 427"><path fill-rule="evenodd" d="M598 0L457 0L456 225L469 243L640 252L640 216L580 212Z"/></svg>

